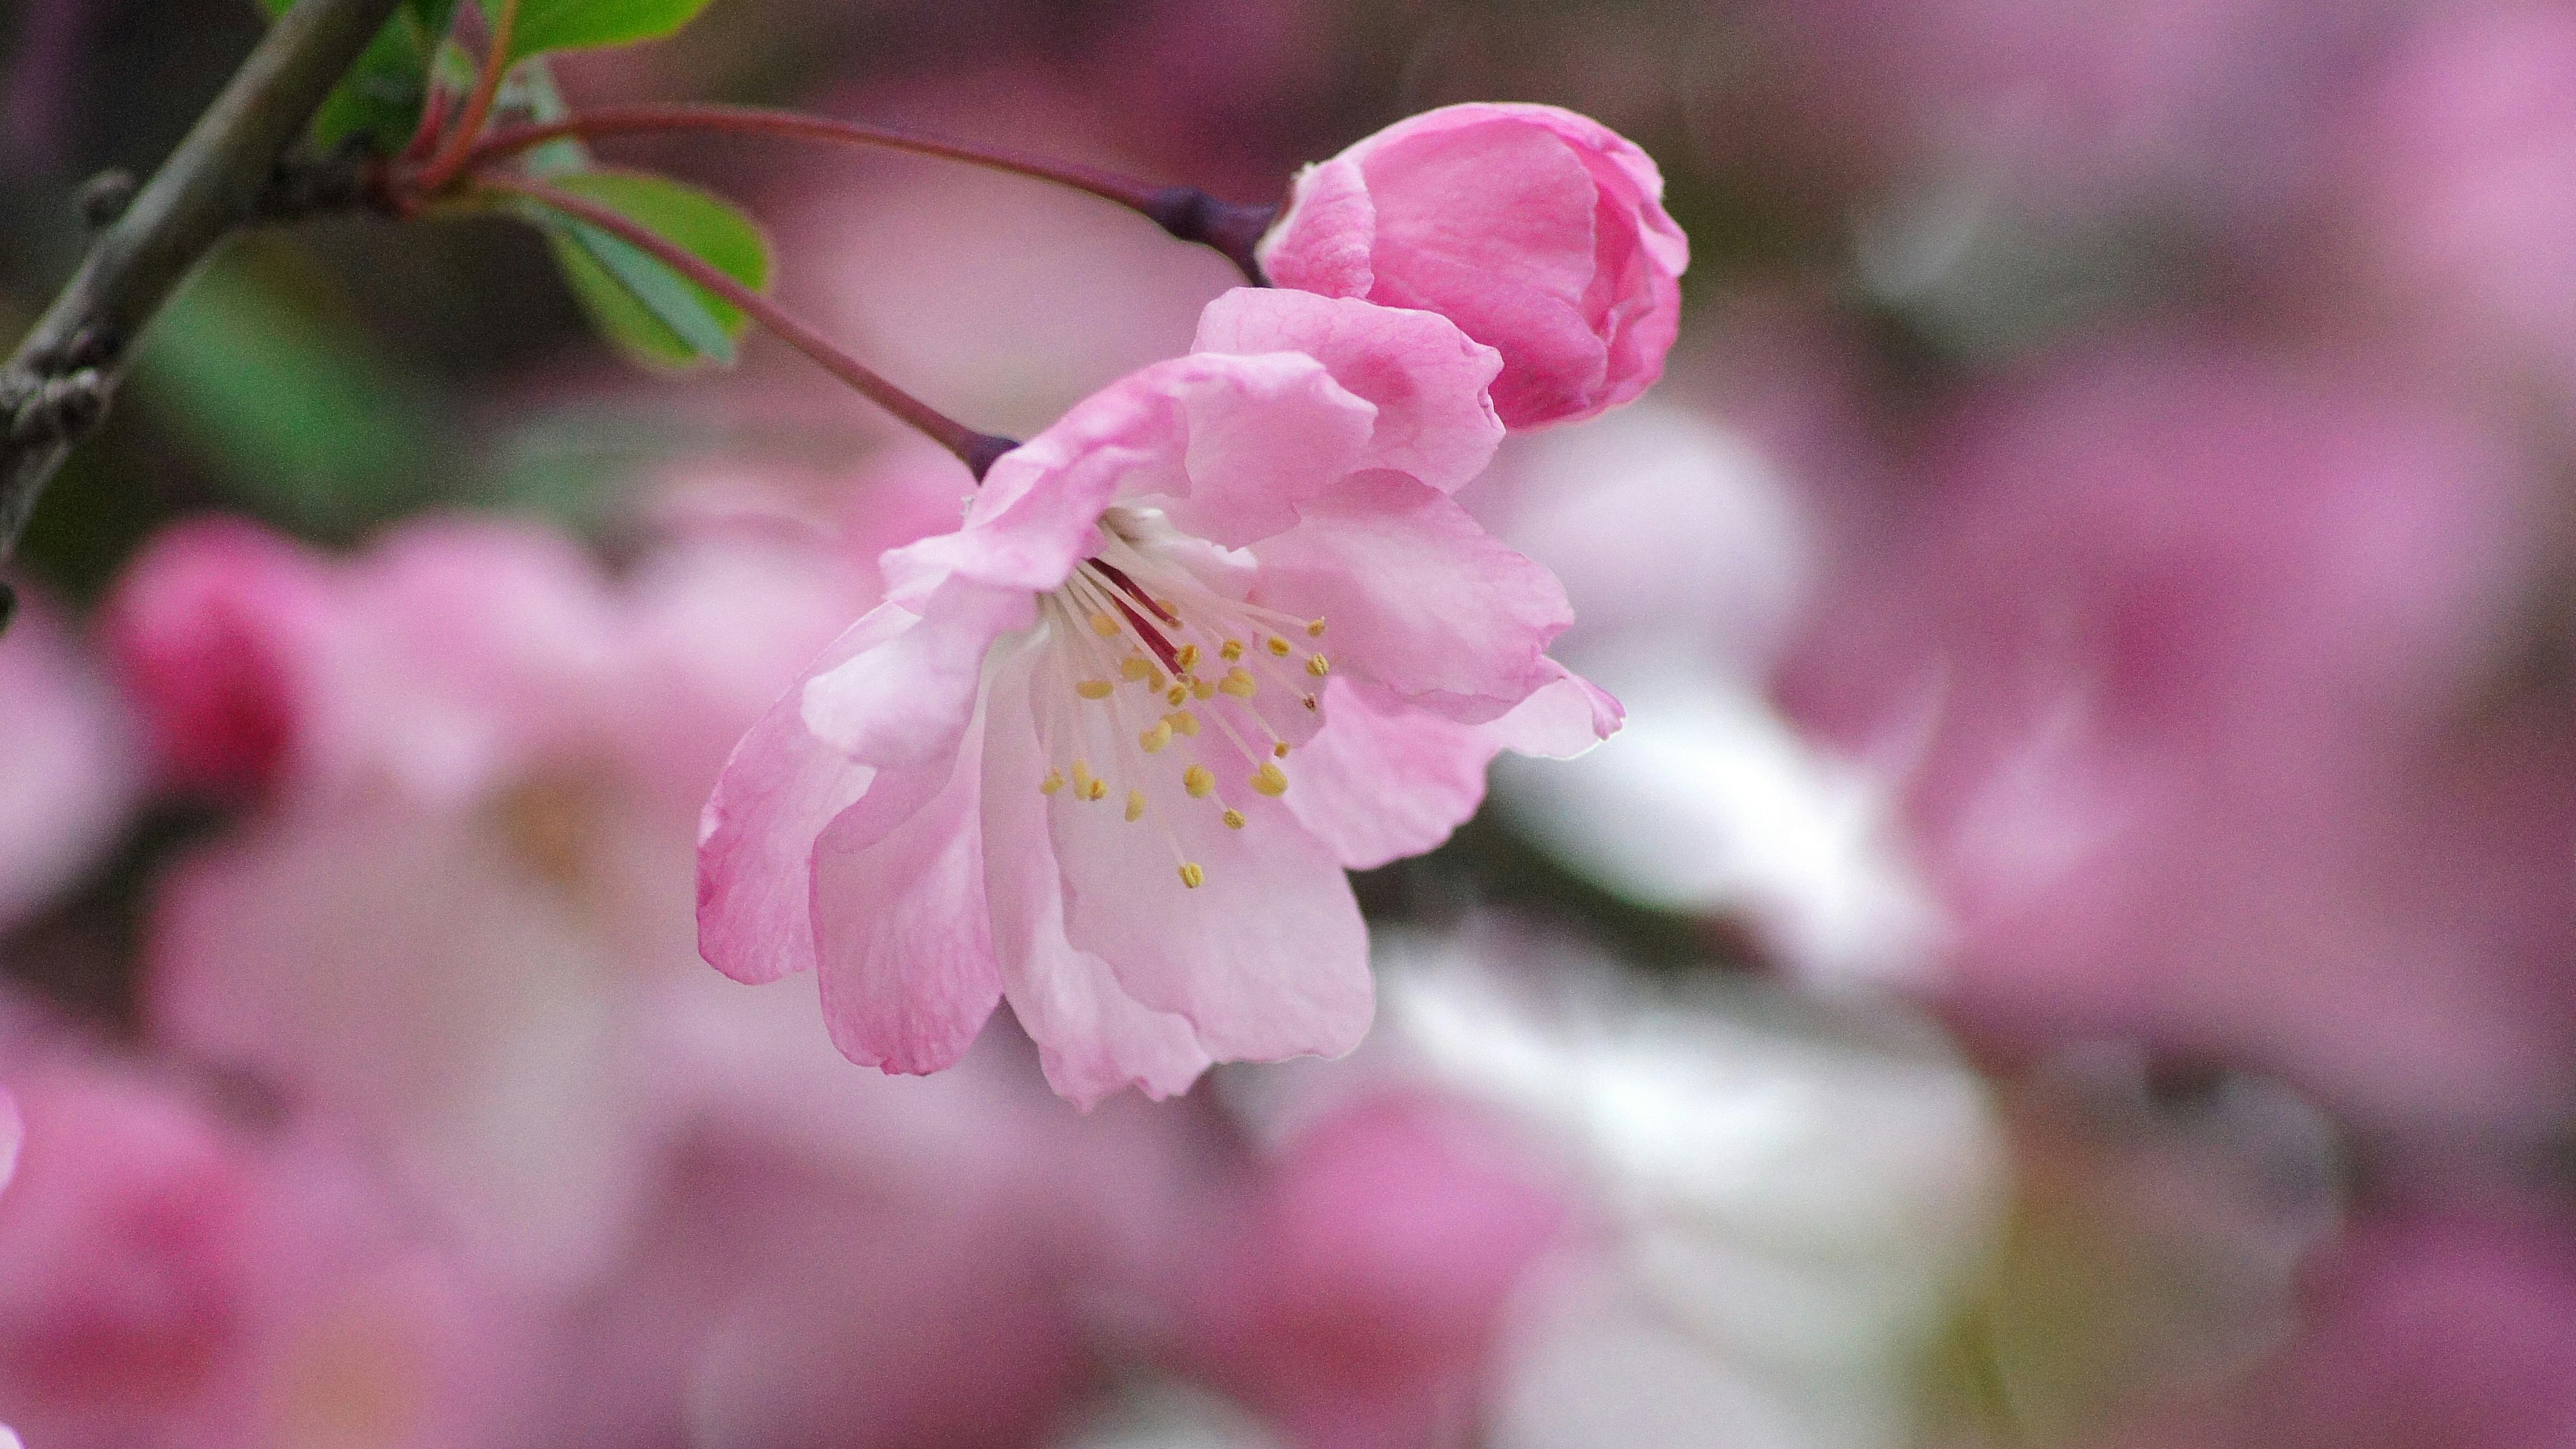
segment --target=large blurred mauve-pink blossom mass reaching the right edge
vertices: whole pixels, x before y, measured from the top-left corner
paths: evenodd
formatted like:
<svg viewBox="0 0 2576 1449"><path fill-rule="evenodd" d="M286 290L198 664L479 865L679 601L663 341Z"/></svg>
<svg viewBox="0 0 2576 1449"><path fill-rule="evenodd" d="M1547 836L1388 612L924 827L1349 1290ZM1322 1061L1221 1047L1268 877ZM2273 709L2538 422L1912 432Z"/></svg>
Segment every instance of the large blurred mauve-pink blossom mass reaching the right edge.
<svg viewBox="0 0 2576 1449"><path fill-rule="evenodd" d="M2133 343L1924 454L1847 531L1788 696L1914 761L1958 1006L2362 1114L2576 1091L2576 789L2535 784L2568 750L2460 722L2530 565L2512 446L2352 366Z"/></svg>

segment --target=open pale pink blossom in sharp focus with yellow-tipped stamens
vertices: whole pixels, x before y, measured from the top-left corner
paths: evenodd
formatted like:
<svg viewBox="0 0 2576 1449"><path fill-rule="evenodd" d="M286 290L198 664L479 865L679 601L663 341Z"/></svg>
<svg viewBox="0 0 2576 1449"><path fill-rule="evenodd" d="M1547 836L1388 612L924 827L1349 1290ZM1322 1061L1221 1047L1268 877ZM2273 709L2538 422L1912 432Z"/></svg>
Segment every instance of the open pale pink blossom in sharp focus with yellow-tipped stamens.
<svg viewBox="0 0 2576 1449"><path fill-rule="evenodd" d="M1494 750L1618 727L1546 655L1556 580L1448 498L1497 366L1427 312L1234 291L999 459L726 763L706 959L819 967L840 1049L904 1073L1007 995L1082 1104L1352 1047L1342 869L1445 838Z"/></svg>

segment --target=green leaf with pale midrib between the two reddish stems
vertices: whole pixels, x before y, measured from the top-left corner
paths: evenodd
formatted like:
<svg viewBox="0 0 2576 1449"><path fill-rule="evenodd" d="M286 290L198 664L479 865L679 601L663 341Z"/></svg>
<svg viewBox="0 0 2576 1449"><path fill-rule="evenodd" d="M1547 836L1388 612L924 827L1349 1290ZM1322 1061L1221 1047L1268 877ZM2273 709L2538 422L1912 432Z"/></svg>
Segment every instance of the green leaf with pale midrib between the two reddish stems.
<svg viewBox="0 0 2576 1449"><path fill-rule="evenodd" d="M641 222L752 291L770 281L770 250L760 227L696 186L639 170L582 170L549 183ZM574 217L536 204L526 214L546 227L564 281L592 325L626 356L647 366L734 361L744 317L732 304Z"/></svg>

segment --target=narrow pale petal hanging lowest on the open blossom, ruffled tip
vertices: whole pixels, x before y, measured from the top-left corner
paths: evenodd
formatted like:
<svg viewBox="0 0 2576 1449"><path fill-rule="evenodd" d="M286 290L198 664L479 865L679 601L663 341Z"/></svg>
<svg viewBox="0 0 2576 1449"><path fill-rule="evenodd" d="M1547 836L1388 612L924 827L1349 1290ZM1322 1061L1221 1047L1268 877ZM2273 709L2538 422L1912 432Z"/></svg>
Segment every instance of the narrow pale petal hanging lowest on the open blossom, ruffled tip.
<svg viewBox="0 0 2576 1449"><path fill-rule="evenodd" d="M1046 758L1030 663L1020 655L994 673L984 735L984 879L1010 1008L1038 1044L1046 1083L1084 1109L1131 1085L1154 1098L1182 1093L1213 1062L1190 1018L1144 1006L1108 962L1064 936L1064 877L1036 786Z"/></svg>

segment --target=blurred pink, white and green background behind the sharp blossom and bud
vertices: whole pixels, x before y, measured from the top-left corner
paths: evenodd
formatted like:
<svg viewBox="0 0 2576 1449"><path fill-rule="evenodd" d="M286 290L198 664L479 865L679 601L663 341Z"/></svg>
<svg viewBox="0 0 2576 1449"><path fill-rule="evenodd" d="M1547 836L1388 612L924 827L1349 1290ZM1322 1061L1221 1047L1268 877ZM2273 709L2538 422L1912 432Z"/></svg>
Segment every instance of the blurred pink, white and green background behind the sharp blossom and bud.
<svg viewBox="0 0 2576 1449"><path fill-rule="evenodd" d="M0 8L0 333L247 0ZM963 474L505 222L229 245L0 639L36 1449L2576 1444L2576 8L719 0L574 103L1242 201L1638 139L1669 374L1468 490L1628 732L1360 877L1381 1021L1082 1116L688 936L724 748ZM768 142L778 294L1005 433L1221 260Z"/></svg>

